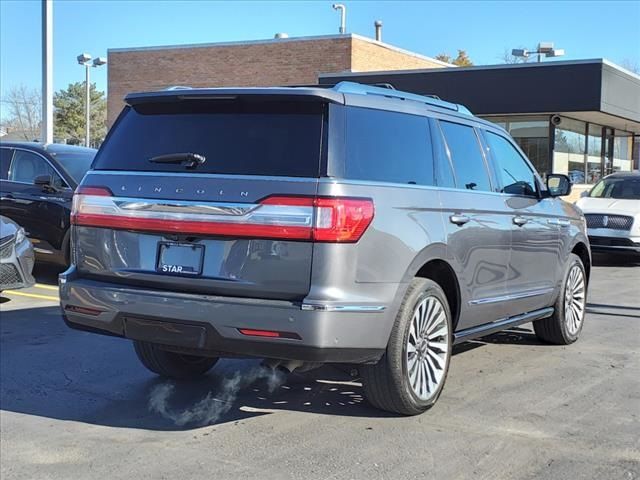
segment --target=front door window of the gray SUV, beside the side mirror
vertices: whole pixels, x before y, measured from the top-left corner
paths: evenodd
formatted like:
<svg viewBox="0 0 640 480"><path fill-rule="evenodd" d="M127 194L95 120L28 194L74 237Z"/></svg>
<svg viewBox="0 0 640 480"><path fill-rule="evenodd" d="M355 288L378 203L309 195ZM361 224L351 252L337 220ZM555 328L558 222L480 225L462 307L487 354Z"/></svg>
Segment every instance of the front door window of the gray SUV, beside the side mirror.
<svg viewBox="0 0 640 480"><path fill-rule="evenodd" d="M537 189L534 173L520 153L504 137L489 132L486 132L485 137L496 162L500 191L535 196Z"/></svg>

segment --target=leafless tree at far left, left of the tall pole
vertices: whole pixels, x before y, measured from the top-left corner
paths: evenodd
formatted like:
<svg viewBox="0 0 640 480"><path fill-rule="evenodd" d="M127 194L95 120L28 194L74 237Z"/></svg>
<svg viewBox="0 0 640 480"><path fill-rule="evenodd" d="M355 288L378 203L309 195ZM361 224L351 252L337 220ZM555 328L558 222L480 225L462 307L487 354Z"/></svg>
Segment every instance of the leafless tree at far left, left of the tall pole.
<svg viewBox="0 0 640 480"><path fill-rule="evenodd" d="M4 124L25 140L40 137L41 95L37 89L24 85L13 87L2 99Z"/></svg>

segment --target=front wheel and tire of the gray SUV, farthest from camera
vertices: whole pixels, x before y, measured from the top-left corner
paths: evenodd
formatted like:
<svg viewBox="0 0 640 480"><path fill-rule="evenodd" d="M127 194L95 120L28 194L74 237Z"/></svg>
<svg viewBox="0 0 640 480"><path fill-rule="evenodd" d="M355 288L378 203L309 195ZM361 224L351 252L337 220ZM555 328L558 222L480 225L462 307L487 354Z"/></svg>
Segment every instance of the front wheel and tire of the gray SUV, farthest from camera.
<svg viewBox="0 0 640 480"><path fill-rule="evenodd" d="M587 276L582 260L569 256L560 294L553 305L553 315L533 322L539 340L555 345L569 345L580 336L587 306Z"/></svg>

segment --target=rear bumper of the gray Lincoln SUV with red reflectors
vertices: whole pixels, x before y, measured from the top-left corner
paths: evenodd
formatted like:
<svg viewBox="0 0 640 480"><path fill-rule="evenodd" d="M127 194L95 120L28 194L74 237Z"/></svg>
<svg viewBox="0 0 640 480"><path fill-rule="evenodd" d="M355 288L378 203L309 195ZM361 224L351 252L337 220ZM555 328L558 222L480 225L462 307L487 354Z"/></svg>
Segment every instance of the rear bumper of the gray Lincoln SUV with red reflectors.
<svg viewBox="0 0 640 480"><path fill-rule="evenodd" d="M221 357L374 363L393 324L384 305L329 311L288 301L173 293L76 278L73 268L60 275L60 302L71 328ZM239 329L298 338L247 336Z"/></svg>

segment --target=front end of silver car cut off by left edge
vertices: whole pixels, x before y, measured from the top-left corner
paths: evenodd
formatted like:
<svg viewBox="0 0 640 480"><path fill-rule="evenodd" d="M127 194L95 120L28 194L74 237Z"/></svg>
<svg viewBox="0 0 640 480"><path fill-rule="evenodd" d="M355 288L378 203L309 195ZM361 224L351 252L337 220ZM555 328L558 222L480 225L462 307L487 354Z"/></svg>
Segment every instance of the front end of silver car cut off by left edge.
<svg viewBox="0 0 640 480"><path fill-rule="evenodd" d="M34 259L33 247L24 229L0 215L0 291L33 285Z"/></svg>

